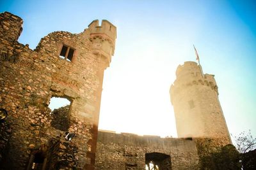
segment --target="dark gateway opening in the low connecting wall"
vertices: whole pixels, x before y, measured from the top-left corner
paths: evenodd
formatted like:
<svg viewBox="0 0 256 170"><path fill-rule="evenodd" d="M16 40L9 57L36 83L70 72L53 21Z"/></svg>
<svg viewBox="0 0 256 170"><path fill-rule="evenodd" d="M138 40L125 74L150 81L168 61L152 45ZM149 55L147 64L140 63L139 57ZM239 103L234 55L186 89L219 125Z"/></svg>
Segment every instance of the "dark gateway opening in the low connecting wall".
<svg viewBox="0 0 256 170"><path fill-rule="evenodd" d="M145 163L146 170L172 169L171 157L164 153L146 153Z"/></svg>

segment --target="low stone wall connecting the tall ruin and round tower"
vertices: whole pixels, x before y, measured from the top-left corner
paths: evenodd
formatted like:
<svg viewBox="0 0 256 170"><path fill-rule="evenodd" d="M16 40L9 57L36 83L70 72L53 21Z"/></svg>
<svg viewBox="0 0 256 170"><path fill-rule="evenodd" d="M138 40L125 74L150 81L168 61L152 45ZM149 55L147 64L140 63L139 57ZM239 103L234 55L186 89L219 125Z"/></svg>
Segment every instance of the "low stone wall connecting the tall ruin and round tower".
<svg viewBox="0 0 256 170"><path fill-rule="evenodd" d="M145 169L146 153L170 155L169 169L198 169L197 152L191 139L99 131L96 169Z"/></svg>

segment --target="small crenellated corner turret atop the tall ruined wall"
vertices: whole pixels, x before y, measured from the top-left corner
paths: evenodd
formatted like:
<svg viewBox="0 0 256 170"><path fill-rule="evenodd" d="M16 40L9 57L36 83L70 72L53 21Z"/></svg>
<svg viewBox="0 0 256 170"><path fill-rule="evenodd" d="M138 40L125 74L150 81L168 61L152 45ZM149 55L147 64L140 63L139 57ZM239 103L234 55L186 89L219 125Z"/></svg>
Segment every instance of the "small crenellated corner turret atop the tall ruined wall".
<svg viewBox="0 0 256 170"><path fill-rule="evenodd" d="M93 20L88 25L88 31L90 31L90 41L93 43L93 53L103 57L109 66L111 57L115 52L115 25L108 22L108 20L102 20L101 25L99 25L99 20Z"/></svg>

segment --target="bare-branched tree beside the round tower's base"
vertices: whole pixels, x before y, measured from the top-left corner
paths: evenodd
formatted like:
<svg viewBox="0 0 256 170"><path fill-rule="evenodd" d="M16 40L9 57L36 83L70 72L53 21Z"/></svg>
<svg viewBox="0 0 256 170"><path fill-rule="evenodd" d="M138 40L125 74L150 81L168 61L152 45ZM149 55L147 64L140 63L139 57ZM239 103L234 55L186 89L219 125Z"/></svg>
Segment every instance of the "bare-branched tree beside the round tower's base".
<svg viewBox="0 0 256 170"><path fill-rule="evenodd" d="M234 145L239 153L246 153L256 148L256 138L253 138L251 131L241 132L238 136L234 136Z"/></svg>

